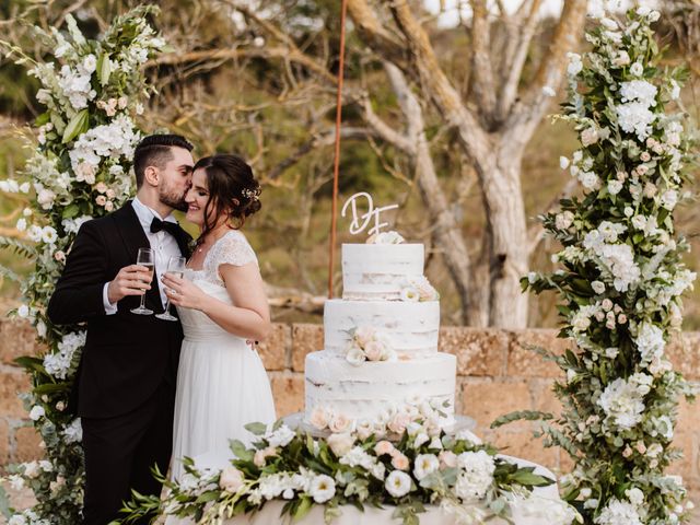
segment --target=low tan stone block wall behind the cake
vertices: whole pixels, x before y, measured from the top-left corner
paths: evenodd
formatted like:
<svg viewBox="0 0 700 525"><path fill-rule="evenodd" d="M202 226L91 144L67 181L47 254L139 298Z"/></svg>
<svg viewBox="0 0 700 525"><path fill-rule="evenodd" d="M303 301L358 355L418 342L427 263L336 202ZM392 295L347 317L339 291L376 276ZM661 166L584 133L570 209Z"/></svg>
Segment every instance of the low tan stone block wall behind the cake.
<svg viewBox="0 0 700 525"><path fill-rule="evenodd" d="M505 447L505 453L540 463L556 471L567 471L570 462L558 448L544 448L533 439L533 423L517 422L489 430L489 423L514 410L558 412L559 401L551 384L559 369L527 348L539 346L556 351L567 342L556 339L555 330L499 330L443 327L440 349L457 355L457 413L477 421L476 433ZM668 348L674 365L686 377L700 380L700 332L686 334ZM304 359L323 347L323 327L310 324L277 324L272 337L260 345L259 352L268 370L279 416L303 409ZM30 326L0 320L0 466L40 455L37 439L27 415L18 399L30 384L23 371L13 365L18 355L35 354ZM700 489L700 412L685 401L680 406L676 445L685 451L685 459L674 466L689 488Z"/></svg>

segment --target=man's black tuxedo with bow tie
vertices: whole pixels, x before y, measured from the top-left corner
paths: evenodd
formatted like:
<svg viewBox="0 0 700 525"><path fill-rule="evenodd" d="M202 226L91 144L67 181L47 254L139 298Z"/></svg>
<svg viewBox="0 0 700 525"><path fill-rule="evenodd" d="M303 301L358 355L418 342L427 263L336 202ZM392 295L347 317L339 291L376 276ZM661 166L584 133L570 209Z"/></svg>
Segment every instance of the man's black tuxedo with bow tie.
<svg viewBox="0 0 700 525"><path fill-rule="evenodd" d="M188 256L189 235L172 233ZM90 525L115 518L130 488L160 493L149 469L158 463L165 472L170 462L182 326L131 314L138 296L124 298L113 315L103 302L105 283L149 246L131 202L84 223L48 304L52 323L88 326L71 405L82 418ZM158 279L151 287L145 305L162 312Z"/></svg>

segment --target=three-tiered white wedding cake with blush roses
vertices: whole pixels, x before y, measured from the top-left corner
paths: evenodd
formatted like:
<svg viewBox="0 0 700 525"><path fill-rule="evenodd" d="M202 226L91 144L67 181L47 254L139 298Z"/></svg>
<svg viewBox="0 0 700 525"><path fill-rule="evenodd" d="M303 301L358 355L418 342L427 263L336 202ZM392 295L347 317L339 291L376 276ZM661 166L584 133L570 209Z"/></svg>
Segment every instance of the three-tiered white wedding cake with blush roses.
<svg viewBox="0 0 700 525"><path fill-rule="evenodd" d="M402 432L454 422L456 358L438 352L440 302L423 245L395 232L342 245L342 299L324 311L323 351L306 357L305 422L334 432Z"/></svg>

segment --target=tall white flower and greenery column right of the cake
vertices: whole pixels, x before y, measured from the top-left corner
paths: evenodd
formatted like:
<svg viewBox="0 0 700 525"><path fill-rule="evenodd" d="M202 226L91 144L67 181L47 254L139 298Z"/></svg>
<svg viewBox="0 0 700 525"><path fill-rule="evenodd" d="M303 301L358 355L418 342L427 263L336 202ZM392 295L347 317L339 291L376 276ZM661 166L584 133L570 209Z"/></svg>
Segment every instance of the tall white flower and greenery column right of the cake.
<svg viewBox="0 0 700 525"><path fill-rule="evenodd" d="M640 7L625 21L596 13L592 50L571 54L570 100L560 119L575 126L582 148L562 158L583 188L546 214L546 230L563 249L553 275L530 273L523 288L556 290L560 337L574 351L548 354L565 373L555 390L563 412L542 423L546 445L573 458L561 479L565 499L585 523L674 524L685 521L686 489L665 475L680 457L672 447L678 397L692 388L665 355L681 325L681 294L696 275L681 261L673 211L691 163L682 112L670 113L682 72L662 71L650 24L658 12ZM521 412L514 419L552 419Z"/></svg>

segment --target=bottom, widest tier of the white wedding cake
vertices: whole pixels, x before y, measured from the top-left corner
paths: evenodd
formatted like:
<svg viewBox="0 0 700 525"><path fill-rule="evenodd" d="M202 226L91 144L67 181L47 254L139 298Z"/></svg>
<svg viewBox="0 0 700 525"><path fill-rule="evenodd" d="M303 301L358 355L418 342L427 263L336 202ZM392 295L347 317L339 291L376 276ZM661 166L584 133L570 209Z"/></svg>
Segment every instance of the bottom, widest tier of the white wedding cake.
<svg viewBox="0 0 700 525"><path fill-rule="evenodd" d="M457 360L448 353L354 365L337 353L312 352L306 355L305 420L315 424L320 411L322 420L340 417L381 427L400 413L432 412L440 425L450 425L456 369Z"/></svg>

